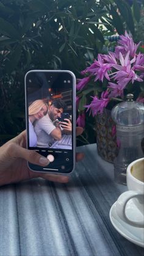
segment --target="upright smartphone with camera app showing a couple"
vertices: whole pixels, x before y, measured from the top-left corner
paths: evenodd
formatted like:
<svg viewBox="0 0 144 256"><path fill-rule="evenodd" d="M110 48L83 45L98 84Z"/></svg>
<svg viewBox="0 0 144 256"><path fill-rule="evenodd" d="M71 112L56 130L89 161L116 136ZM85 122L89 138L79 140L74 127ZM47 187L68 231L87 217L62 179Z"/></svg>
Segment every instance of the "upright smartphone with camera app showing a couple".
<svg viewBox="0 0 144 256"><path fill-rule="evenodd" d="M76 78L69 70L31 70L24 78L27 148L50 161L42 167L28 163L35 172L70 174L76 154ZM70 119L71 117L71 119ZM55 125L71 121L67 133Z"/></svg>

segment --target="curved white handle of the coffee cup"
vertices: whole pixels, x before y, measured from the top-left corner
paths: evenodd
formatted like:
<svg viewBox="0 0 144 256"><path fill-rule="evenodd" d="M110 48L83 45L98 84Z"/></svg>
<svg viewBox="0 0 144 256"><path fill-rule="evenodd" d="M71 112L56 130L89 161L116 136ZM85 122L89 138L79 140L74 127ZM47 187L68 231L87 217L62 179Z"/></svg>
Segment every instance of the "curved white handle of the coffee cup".
<svg viewBox="0 0 144 256"><path fill-rule="evenodd" d="M117 214L120 217L120 219L122 219L122 221L130 225L133 225L134 227L144 227L144 218L143 221L131 221L131 219L129 219L126 216L126 204L130 199L134 197L143 200L143 194L139 194L135 191L126 191L123 194L121 194L120 197L118 197L116 204Z"/></svg>

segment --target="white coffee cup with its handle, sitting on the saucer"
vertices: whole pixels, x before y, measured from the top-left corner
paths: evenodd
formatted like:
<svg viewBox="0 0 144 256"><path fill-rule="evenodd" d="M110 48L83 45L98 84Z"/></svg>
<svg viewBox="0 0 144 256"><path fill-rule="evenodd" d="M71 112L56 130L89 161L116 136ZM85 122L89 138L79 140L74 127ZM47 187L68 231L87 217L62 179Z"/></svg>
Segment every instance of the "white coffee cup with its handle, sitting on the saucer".
<svg viewBox="0 0 144 256"><path fill-rule="evenodd" d="M128 191L121 194L117 200L117 214L126 223L134 227L144 227L144 158L140 158L129 164L126 172ZM130 219L126 214L126 206L132 199L134 210L139 210L142 219Z"/></svg>

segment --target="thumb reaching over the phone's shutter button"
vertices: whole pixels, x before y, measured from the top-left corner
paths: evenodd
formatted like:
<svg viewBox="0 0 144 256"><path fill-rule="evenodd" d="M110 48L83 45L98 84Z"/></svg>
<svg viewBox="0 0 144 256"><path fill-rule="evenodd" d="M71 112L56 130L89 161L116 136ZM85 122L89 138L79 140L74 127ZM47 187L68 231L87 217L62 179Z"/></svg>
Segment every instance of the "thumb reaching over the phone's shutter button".
<svg viewBox="0 0 144 256"><path fill-rule="evenodd" d="M34 150L28 150L15 145L15 150L13 151L15 152L15 156L13 155L14 157L18 156L19 158L23 158L32 164L37 164L38 166L47 166L49 164L49 160L45 158L45 156L41 156Z"/></svg>

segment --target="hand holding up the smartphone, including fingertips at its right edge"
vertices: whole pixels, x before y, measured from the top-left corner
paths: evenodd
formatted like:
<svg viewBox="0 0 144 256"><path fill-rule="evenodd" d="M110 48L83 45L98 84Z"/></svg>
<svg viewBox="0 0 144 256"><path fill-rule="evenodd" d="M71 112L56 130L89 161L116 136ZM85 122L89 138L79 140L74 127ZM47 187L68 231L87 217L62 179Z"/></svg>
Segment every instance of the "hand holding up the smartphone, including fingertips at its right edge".
<svg viewBox="0 0 144 256"><path fill-rule="evenodd" d="M80 135L82 131L83 129L81 127L76 128L77 135ZM82 153L77 153L76 160L81 160L83 156ZM41 174L40 172L29 170L27 161L40 166L47 166L49 164L47 158L41 156L34 150L26 149L26 131L23 131L0 147L0 186L35 177L45 178L54 182L68 182L68 176Z"/></svg>

